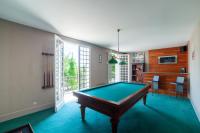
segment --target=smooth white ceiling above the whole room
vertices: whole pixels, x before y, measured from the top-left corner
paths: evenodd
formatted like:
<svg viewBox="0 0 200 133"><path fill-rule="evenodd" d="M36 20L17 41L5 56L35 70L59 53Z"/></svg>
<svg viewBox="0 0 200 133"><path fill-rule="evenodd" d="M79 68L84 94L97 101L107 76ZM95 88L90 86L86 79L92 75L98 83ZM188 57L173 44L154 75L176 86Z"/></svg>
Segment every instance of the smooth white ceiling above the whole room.
<svg viewBox="0 0 200 133"><path fill-rule="evenodd" d="M200 0L1 0L0 18L124 52L189 40Z"/></svg>

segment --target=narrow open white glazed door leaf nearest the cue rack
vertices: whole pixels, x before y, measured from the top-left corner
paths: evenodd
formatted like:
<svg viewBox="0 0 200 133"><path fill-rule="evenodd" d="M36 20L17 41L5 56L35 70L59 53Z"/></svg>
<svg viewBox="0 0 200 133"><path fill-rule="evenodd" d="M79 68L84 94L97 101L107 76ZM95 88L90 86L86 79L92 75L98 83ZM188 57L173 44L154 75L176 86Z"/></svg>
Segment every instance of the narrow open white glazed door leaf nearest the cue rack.
<svg viewBox="0 0 200 133"><path fill-rule="evenodd" d="M64 41L55 35L55 112L64 105Z"/></svg>

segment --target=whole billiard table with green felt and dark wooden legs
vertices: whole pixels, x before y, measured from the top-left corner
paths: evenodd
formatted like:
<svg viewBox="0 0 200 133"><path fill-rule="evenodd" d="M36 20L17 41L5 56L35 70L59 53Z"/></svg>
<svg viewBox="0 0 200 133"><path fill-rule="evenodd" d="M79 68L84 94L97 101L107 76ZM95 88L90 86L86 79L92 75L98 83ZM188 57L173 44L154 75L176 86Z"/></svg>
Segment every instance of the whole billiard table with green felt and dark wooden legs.
<svg viewBox="0 0 200 133"><path fill-rule="evenodd" d="M149 84L117 82L95 88L75 91L85 121L85 108L91 108L111 117L112 133L117 133L120 116L143 98L144 105Z"/></svg>

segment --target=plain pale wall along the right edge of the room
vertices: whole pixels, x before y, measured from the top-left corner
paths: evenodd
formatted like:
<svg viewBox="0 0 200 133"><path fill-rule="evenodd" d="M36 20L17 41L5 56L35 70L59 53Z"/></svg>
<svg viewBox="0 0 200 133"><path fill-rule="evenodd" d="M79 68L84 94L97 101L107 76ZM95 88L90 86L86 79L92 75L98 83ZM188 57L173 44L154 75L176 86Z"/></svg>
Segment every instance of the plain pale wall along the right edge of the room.
<svg viewBox="0 0 200 133"><path fill-rule="evenodd" d="M195 53L194 59L192 54ZM190 97L200 120L200 23L195 28L189 44Z"/></svg>

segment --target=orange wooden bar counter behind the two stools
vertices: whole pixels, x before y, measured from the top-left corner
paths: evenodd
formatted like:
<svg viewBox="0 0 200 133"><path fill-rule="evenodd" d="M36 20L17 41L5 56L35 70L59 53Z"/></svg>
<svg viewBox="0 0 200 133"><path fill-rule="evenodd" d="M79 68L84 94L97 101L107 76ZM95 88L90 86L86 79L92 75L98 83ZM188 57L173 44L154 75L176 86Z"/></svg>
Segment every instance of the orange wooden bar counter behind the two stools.
<svg viewBox="0 0 200 133"><path fill-rule="evenodd" d="M176 95L175 85L170 84L170 82L175 82L178 76L185 77L184 93L183 96L188 96L189 90L189 74L188 73L171 73L171 72L144 72L143 73L143 82L152 81L153 76L160 76L159 80L159 91L158 93L167 94L167 95Z"/></svg>

